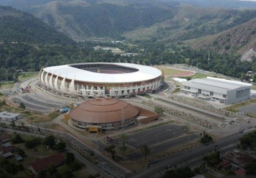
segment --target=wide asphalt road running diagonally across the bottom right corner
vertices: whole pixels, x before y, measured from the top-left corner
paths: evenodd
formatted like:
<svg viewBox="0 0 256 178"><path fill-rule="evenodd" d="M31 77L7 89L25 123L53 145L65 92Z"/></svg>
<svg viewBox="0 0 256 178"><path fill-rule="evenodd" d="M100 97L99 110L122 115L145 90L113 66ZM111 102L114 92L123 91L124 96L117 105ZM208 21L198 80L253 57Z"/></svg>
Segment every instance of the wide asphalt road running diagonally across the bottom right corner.
<svg viewBox="0 0 256 178"><path fill-rule="evenodd" d="M243 133L245 134L245 133ZM229 145L234 144L243 134L235 134L227 138L223 138L222 140L215 141L214 143L210 143L209 145L201 146L198 148L190 149L188 151L181 152L176 155L172 155L171 157L165 158L163 160L157 161L152 164L152 166L148 169L142 170L132 176L131 178L149 178L152 175L157 174L158 172L162 172L165 170L165 167L168 165L178 165L180 163L186 162L188 160L195 159L204 154L209 153L215 149L215 145L219 148L223 148Z"/></svg>

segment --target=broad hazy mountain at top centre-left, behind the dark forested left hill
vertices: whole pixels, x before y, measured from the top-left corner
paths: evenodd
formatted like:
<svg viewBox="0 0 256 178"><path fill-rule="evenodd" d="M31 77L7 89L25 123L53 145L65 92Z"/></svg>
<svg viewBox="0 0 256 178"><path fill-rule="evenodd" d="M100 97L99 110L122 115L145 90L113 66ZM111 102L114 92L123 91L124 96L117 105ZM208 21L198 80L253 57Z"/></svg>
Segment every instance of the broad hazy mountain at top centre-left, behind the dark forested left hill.
<svg viewBox="0 0 256 178"><path fill-rule="evenodd" d="M76 40L118 38L171 19L177 9L176 2L153 0L11 0L8 5L32 13Z"/></svg>

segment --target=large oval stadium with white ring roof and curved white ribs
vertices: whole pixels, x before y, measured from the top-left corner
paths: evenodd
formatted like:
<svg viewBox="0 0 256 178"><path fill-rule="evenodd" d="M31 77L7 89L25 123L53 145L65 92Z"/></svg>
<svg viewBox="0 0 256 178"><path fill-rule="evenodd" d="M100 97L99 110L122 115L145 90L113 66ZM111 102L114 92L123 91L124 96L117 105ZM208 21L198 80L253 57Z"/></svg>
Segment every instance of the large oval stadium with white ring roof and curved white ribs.
<svg viewBox="0 0 256 178"><path fill-rule="evenodd" d="M42 68L42 85L72 97L127 97L158 90L162 72L130 63L79 63Z"/></svg>

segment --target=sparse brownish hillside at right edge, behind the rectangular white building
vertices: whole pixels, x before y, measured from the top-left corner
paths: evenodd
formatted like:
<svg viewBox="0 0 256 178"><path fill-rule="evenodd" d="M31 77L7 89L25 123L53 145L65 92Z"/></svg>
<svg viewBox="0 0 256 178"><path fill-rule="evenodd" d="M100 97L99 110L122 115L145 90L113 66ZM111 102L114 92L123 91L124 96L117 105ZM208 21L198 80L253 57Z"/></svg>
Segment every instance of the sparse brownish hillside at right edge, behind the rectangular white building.
<svg viewBox="0 0 256 178"><path fill-rule="evenodd" d="M256 18L224 32L201 38L190 43L194 49L214 49L220 53L245 55L250 60L256 51ZM246 56L248 56L246 58Z"/></svg>

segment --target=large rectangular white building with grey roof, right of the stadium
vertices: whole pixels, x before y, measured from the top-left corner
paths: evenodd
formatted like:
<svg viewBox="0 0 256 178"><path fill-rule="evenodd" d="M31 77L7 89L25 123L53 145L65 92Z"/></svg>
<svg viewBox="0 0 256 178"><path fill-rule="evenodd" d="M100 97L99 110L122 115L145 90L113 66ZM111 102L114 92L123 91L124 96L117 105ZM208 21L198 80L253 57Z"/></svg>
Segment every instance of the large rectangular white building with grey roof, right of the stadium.
<svg viewBox="0 0 256 178"><path fill-rule="evenodd" d="M182 82L181 93L203 100L234 103L250 98L251 84L207 77Z"/></svg>

